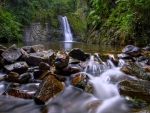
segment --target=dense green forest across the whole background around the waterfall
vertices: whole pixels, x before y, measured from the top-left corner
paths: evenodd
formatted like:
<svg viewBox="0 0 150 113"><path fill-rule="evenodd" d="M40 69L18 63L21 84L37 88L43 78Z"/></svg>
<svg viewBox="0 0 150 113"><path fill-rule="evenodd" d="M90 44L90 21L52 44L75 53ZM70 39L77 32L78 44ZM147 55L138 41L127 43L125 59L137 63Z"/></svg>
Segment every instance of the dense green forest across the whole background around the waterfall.
<svg viewBox="0 0 150 113"><path fill-rule="evenodd" d="M149 12L150 0L1 0L0 42L21 40L31 22L57 28L58 15L67 15L84 42L142 46L149 43Z"/></svg>

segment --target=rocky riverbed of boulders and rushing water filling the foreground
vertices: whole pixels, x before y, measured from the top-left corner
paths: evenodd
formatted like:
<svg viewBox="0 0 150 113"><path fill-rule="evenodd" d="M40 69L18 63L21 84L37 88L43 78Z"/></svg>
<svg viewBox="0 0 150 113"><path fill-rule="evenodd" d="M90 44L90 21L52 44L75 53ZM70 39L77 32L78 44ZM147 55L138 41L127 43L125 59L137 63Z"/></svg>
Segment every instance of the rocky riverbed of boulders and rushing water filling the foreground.
<svg viewBox="0 0 150 113"><path fill-rule="evenodd" d="M0 45L0 81L5 87L1 97L13 98L14 103L31 100L42 113L145 112L150 104L149 54L149 47L133 45L117 55L85 53L79 48L66 52L45 50L43 45ZM112 97L118 96L124 108L113 106ZM5 102L1 112L20 112Z"/></svg>

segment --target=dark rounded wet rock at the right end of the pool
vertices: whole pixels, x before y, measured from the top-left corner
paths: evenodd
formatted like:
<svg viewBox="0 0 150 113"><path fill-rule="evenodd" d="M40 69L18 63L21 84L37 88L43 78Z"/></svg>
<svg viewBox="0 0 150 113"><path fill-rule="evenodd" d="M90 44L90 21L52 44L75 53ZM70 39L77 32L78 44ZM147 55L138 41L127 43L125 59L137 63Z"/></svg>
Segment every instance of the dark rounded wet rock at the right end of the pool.
<svg viewBox="0 0 150 113"><path fill-rule="evenodd" d="M136 46L127 45L125 48L122 49L122 53L136 57L136 56L141 55L141 50L140 50L140 48L138 48Z"/></svg>

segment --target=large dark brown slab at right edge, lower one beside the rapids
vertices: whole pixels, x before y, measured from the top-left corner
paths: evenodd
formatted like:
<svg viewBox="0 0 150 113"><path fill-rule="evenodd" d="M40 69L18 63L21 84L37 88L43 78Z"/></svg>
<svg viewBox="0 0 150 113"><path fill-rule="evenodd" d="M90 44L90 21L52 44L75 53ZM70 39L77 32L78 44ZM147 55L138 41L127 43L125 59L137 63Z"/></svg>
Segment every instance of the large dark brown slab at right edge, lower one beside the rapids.
<svg viewBox="0 0 150 113"><path fill-rule="evenodd" d="M118 84L121 95L142 99L150 103L150 81L126 80Z"/></svg>

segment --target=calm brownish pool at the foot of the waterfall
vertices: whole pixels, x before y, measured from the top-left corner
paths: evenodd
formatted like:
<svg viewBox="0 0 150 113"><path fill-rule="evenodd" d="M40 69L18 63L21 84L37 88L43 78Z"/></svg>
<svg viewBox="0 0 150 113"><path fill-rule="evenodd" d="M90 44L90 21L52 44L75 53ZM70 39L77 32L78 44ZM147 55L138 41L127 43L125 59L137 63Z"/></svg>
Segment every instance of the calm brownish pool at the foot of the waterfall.
<svg viewBox="0 0 150 113"><path fill-rule="evenodd" d="M112 45L99 45L99 44L87 44L83 42L18 42L18 43L2 43L2 45L6 47L10 47L12 44L18 45L18 47L22 46L31 46L35 44L43 44L45 49L53 49L53 50L63 50L70 51L73 48L80 48L85 52L95 53L95 52L103 52L103 53L119 53L122 46L112 46Z"/></svg>

